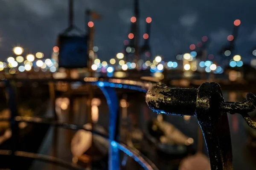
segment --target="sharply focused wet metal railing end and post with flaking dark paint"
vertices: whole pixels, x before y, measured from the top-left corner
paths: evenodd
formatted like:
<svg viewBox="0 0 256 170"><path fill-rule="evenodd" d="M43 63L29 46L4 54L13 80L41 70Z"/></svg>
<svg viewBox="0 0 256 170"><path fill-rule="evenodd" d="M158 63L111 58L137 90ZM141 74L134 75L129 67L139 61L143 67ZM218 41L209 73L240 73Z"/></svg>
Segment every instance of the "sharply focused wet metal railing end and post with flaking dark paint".
<svg viewBox="0 0 256 170"><path fill-rule="evenodd" d="M232 147L227 112L239 113L250 127L256 129L248 112L255 109L256 96L247 94L243 102L224 102L221 87L203 83L198 89L152 86L145 100L157 113L197 116L207 144L212 170L232 170Z"/></svg>

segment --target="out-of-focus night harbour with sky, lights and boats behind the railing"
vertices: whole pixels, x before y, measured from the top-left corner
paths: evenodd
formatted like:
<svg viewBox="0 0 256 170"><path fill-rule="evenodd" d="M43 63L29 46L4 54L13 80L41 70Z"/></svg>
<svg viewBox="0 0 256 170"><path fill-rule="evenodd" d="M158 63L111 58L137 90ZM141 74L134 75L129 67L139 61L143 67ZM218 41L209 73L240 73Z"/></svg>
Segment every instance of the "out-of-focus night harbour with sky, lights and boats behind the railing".
<svg viewBox="0 0 256 170"><path fill-rule="evenodd" d="M213 81L226 101L241 102L247 92L256 94L255 5L249 0L0 0L0 117L11 117L6 79L16 79L19 116L54 118L106 135L107 101L98 87L83 82L130 79L198 88ZM191 156L209 168L196 117L157 115L143 92L118 88L116 93L123 143L160 170L183 170ZM234 169L253 170L256 132L240 115L228 117ZM49 125L19 122L18 127L17 150L84 169L108 169L105 139ZM9 122L0 122L1 155L12 150L12 134ZM6 160L0 168L9 168L9 158L0 157ZM121 169L142 168L124 153L120 161ZM35 159L17 164L67 169Z"/></svg>

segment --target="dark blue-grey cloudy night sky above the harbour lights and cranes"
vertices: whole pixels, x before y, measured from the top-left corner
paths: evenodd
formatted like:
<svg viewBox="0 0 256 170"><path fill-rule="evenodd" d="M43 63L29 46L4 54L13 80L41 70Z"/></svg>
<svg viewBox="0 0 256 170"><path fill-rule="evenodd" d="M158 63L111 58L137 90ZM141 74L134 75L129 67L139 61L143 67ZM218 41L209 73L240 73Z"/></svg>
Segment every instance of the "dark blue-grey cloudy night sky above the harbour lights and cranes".
<svg viewBox="0 0 256 170"><path fill-rule="evenodd" d="M67 0L0 0L0 59L13 55L15 45L50 57L57 35L67 28L67 5ZM141 43L145 18L151 17L153 55L172 61L177 54L189 51L190 44L208 36L208 54L216 56L228 42L233 21L240 19L235 53L249 62L253 58L249 51L256 45L255 6L252 0L140 0ZM133 0L74 0L74 8L75 24L82 30L85 9L102 15L94 21L100 59L109 61L122 51L134 15Z"/></svg>

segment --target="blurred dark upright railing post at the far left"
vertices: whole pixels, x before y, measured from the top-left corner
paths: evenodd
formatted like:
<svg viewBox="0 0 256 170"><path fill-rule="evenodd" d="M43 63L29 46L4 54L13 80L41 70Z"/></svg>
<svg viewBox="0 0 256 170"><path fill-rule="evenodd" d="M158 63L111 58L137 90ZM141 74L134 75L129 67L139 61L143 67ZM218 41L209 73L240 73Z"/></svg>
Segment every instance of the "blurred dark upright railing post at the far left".
<svg viewBox="0 0 256 170"><path fill-rule="evenodd" d="M9 105L11 118L10 118L10 124L12 129L12 153L11 153L11 161L10 161L10 167L14 170L17 169L17 158L15 156L15 152L17 150L17 144L18 144L18 135L19 135L19 127L17 122L15 121L15 117L18 116L17 112L17 99L15 95L15 88L14 88L14 82L10 82L9 80L6 81L6 98Z"/></svg>

